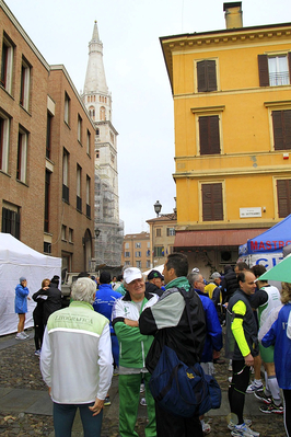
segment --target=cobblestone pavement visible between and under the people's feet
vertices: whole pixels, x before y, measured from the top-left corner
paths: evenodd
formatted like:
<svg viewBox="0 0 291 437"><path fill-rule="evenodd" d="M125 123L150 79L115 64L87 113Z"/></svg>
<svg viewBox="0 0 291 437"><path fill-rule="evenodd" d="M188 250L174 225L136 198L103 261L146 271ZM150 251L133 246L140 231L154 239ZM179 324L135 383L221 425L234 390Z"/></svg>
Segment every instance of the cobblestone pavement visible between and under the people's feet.
<svg viewBox="0 0 291 437"><path fill-rule="evenodd" d="M33 332L31 331L31 336ZM14 335L7 335L0 337L1 342L9 338L14 338ZM34 355L34 342L28 340L16 343L11 347L7 347L0 352L0 388L1 389L28 389L46 391L46 386L42 380L39 372L39 360ZM221 386L222 391L228 391L228 365L216 365L217 380ZM259 407L259 402L257 409ZM117 437L118 436L118 417L110 414L112 406L105 407L103 419L102 437ZM143 411L143 410L142 410ZM113 410L112 410L113 412ZM144 409L146 412L146 409ZM260 433L261 437L283 437L286 436L283 427L283 417L275 414L251 414L253 426L256 432ZM212 432L210 436L225 437L230 436L226 427L228 416L211 415L209 413L206 421L210 421ZM147 423L146 414L138 418L137 433L139 437L144 437L144 426ZM33 415L26 413L15 413L13 411L0 412L0 436L54 436L53 417L50 415ZM74 433L72 434L74 436ZM75 434L77 436L77 434ZM78 437L80 433L78 434ZM171 436L165 436L171 437ZM194 436L195 437L195 436Z"/></svg>

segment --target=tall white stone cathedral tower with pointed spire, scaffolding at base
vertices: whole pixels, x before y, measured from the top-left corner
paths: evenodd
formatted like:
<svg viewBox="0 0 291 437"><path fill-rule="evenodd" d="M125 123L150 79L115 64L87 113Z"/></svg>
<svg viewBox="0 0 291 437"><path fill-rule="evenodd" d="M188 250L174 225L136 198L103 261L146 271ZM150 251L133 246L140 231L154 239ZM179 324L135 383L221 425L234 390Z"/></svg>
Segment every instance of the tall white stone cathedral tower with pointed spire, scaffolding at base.
<svg viewBox="0 0 291 437"><path fill-rule="evenodd" d="M112 124L112 94L103 64L103 44L97 22L89 43L89 60L82 94L95 125L95 240L96 265L121 263L123 223L119 221L117 135Z"/></svg>

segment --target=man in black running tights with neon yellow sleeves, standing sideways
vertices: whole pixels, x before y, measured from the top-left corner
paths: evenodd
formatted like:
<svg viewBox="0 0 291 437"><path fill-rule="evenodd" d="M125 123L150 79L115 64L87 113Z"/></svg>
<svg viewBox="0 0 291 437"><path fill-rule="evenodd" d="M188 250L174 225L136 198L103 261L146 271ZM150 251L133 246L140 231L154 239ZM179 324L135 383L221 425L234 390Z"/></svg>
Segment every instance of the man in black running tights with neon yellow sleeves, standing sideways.
<svg viewBox="0 0 291 437"><path fill-rule="evenodd" d="M232 358L232 382L229 401L232 421L229 428L232 436L259 436L244 422L245 392L249 381L249 368L258 355L257 324L249 297L256 289L256 277L249 271L238 273L240 288L231 297L226 312L226 356ZM235 425L234 425L235 424Z"/></svg>

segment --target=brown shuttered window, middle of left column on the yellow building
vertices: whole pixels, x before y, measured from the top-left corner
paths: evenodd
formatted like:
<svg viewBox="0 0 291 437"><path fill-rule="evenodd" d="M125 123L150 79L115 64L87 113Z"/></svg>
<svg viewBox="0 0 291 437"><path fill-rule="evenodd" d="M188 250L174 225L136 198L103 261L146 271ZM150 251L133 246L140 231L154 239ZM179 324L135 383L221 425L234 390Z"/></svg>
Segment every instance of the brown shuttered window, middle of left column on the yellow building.
<svg viewBox="0 0 291 437"><path fill-rule="evenodd" d="M200 154L220 153L219 116L199 117Z"/></svg>

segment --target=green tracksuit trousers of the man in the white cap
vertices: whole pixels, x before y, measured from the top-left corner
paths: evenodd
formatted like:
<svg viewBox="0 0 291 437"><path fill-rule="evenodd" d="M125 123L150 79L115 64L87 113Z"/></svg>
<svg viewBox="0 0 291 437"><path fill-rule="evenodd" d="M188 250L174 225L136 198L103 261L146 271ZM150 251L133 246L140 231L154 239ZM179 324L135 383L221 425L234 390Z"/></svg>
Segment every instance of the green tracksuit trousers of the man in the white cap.
<svg viewBox="0 0 291 437"><path fill-rule="evenodd" d="M146 426L146 437L156 437L154 400L150 392L150 373L119 375L119 433L121 437L138 437L135 432L137 423L140 384L143 378L149 423Z"/></svg>

